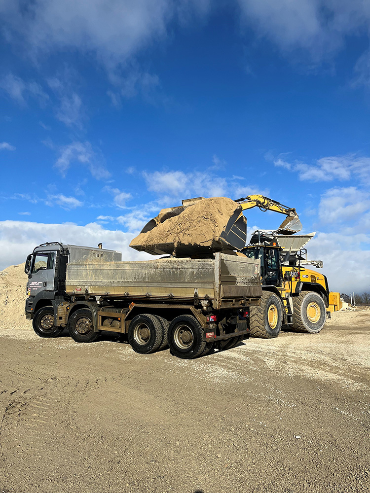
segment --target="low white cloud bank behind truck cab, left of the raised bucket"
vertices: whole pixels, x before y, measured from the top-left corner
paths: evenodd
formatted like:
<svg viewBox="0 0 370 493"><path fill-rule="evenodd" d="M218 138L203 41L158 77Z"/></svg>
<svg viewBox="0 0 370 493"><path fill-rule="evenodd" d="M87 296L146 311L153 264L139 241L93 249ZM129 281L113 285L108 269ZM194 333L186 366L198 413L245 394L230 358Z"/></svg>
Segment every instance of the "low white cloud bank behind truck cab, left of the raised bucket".
<svg viewBox="0 0 370 493"><path fill-rule="evenodd" d="M28 221L0 221L0 270L24 262L35 246L59 241L71 245L97 246L122 252L122 260L154 258L129 247L134 234L104 229L100 224L43 224Z"/></svg>

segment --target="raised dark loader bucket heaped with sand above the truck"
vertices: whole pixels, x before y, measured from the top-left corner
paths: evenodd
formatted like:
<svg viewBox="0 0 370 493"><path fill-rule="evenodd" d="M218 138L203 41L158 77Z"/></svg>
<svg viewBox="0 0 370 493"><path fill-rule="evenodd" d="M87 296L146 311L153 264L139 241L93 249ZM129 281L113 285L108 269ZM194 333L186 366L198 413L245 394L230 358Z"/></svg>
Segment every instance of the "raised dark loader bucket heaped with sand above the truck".
<svg viewBox="0 0 370 493"><path fill-rule="evenodd" d="M199 197L162 209L130 246L153 255L189 257L241 249L246 240L247 221L239 204L225 197Z"/></svg>

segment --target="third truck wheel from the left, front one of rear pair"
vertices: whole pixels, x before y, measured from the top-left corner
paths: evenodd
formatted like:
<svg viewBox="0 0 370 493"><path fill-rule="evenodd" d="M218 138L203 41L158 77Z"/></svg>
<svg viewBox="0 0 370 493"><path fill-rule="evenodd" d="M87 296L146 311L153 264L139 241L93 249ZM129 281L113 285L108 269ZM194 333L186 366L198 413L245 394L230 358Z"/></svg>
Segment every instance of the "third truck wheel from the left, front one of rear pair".
<svg viewBox="0 0 370 493"><path fill-rule="evenodd" d="M128 327L128 342L140 354L157 351L163 340L163 328L158 317L149 314L137 315Z"/></svg>

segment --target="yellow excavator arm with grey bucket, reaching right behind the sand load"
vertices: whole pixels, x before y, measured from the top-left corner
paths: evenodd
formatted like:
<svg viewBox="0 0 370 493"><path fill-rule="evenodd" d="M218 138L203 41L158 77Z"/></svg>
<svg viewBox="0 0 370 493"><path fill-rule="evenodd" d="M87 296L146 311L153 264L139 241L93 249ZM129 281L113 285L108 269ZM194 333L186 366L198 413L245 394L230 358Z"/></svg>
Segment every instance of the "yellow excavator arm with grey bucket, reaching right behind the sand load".
<svg viewBox="0 0 370 493"><path fill-rule="evenodd" d="M293 235L302 229L302 223L298 218L296 209L284 206L276 200L264 197L263 195L248 195L235 200L240 204L243 211L258 207L260 211L274 211L285 214L287 218L280 224L277 232L285 235Z"/></svg>

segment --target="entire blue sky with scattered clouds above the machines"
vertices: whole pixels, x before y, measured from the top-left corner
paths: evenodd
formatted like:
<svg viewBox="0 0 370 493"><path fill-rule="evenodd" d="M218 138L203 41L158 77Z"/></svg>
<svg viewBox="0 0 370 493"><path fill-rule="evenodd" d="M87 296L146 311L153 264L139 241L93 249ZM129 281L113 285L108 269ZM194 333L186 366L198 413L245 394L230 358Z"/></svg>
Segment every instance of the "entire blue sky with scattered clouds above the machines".
<svg viewBox="0 0 370 493"><path fill-rule="evenodd" d="M55 240L140 259L161 208L262 193L316 231L333 290L369 291L370 4L1 0L0 18L0 268Z"/></svg>

